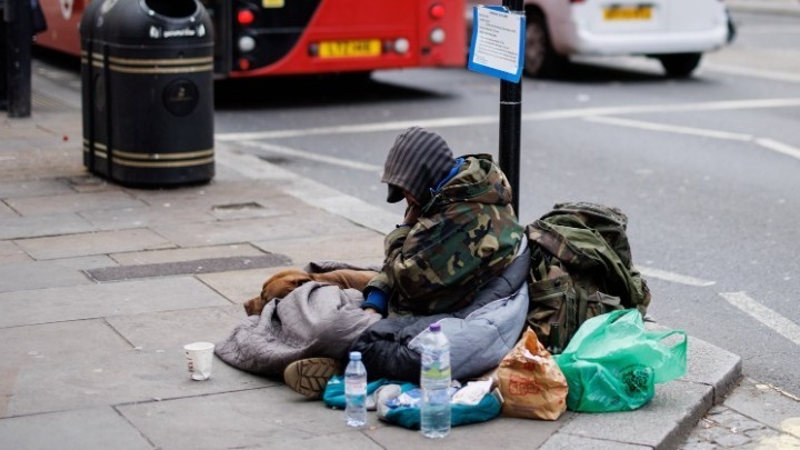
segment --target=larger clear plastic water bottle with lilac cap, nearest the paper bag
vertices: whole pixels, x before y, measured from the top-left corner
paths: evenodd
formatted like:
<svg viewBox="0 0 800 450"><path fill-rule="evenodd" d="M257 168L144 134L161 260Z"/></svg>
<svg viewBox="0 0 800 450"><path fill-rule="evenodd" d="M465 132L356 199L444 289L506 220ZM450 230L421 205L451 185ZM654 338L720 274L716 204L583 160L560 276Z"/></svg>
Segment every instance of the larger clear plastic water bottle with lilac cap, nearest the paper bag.
<svg viewBox="0 0 800 450"><path fill-rule="evenodd" d="M439 323L422 340L420 431L427 438L450 433L450 342Z"/></svg>

